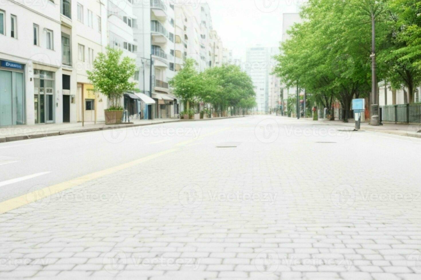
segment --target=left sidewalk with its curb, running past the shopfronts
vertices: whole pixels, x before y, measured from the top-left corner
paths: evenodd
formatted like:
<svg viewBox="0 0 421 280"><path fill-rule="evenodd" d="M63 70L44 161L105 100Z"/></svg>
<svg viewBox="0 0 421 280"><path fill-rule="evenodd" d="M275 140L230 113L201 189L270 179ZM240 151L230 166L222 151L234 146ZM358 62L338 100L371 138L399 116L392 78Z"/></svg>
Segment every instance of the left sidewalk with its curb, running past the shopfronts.
<svg viewBox="0 0 421 280"><path fill-rule="evenodd" d="M210 118L204 120L221 120L225 118L240 118L242 116ZM49 123L36 124L31 126L0 126L0 143L19 141L26 139L34 139L48 136L58 136L64 134L81 133L89 131L100 131L115 128L128 128L135 126L148 126L161 123L172 123L180 121L195 121L195 120L180 120L180 119L155 119L155 120L131 120L131 123L122 123L119 125L106 125L102 122L85 122L82 123Z"/></svg>

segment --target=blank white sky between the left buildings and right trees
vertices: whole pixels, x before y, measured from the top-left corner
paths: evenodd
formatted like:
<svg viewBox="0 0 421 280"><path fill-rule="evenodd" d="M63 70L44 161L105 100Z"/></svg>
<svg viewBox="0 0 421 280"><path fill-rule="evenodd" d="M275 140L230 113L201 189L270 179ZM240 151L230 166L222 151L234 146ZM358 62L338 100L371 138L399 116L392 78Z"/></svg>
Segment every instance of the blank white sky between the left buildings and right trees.
<svg viewBox="0 0 421 280"><path fill-rule="evenodd" d="M304 0L305 1L305 0ZM247 47L277 47L282 13L296 13L303 0L207 0L213 29L234 58L245 61Z"/></svg>

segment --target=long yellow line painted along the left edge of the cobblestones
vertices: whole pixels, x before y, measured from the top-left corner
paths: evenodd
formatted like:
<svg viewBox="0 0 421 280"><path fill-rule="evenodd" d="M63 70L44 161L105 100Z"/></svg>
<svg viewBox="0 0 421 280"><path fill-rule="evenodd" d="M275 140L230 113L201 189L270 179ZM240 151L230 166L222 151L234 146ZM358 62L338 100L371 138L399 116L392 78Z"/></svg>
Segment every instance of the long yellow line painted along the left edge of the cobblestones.
<svg viewBox="0 0 421 280"><path fill-rule="evenodd" d="M205 136L210 136L210 135L222 132L222 131L226 131L230 128L231 127L221 128L221 129L218 129L216 131L204 134L203 136L200 136L199 138L195 138L195 139L187 140L187 141L184 141L184 142L180 142L180 143L176 144L175 146L184 146L184 145L190 144L194 141L201 140ZM101 178L101 177L104 177L106 175L110 175L112 173L116 173L116 172L121 171L123 169L138 165L142 162L147 162L148 160L153 160L157 157L161 157L165 154L170 154L172 152L177 152L177 151L179 151L179 149L168 149L168 150L165 150L163 152L158 152L158 153L146 156L146 157L142 157L139 160L133 160L131 162L127 162L127 163L124 163L124 164L121 164L121 165L117 165L115 167L111 167L111 168L108 168L108 169L105 169L105 170L101 170L101 171L97 171L97 172L94 172L94 173L91 173L91 174L83 175L82 177L75 178L75 179L69 180L67 182L58 183L58 184L53 185L53 186L42 188L40 190L34 191L32 193L29 193L29 194L24 194L24 195L21 195L21 196L12 198L12 199L8 199L6 201L0 202L0 214L9 212L13 209L19 208L21 206L24 206L24 205L27 205L29 203L35 202L37 200L44 199L45 197L51 196L53 194L57 194L61 191L68 190L69 188L79 186L79 185L81 185L83 183L86 183L88 181L92 181L94 179Z"/></svg>

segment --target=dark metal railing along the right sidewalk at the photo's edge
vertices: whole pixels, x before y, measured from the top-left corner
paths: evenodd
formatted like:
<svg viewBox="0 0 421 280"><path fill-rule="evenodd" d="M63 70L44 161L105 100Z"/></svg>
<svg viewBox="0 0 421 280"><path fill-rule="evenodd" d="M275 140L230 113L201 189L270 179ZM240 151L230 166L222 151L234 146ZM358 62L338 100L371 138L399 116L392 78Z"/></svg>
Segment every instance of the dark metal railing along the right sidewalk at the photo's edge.
<svg viewBox="0 0 421 280"><path fill-rule="evenodd" d="M381 118L395 123L421 123L421 104L381 106Z"/></svg>

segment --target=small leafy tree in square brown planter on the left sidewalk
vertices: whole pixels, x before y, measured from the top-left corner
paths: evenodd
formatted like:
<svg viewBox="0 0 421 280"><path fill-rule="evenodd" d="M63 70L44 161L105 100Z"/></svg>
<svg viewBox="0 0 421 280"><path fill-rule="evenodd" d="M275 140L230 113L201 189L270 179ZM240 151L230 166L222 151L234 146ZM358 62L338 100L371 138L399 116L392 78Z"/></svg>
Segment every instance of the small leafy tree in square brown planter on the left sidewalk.
<svg viewBox="0 0 421 280"><path fill-rule="evenodd" d="M105 111L117 111L121 114L123 107L120 100L124 92L139 91L136 89L136 83L130 82L136 70L135 61L129 57L122 59L122 55L123 50L107 46L106 53L100 52L93 61L93 70L86 71L94 90L101 92L109 100L109 107ZM111 123L120 123L119 116L120 114L115 114L115 120L111 120Z"/></svg>

